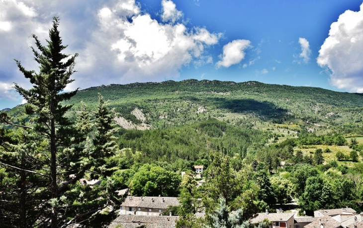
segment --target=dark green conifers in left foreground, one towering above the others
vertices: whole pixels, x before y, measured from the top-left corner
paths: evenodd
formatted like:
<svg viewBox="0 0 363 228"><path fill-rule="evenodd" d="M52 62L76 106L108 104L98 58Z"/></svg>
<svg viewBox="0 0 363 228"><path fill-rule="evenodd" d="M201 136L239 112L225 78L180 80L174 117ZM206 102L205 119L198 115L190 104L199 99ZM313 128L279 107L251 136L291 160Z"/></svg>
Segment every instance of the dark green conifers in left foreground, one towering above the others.
<svg viewBox="0 0 363 228"><path fill-rule="evenodd" d="M113 117L102 99L94 126L86 102L81 103L79 115L68 118L75 110L66 103L78 90L63 90L73 81L78 54L63 53L67 46L62 45L58 26L59 19L54 17L46 46L32 35L38 49L31 48L39 64L38 72L27 71L16 61L32 84L30 89L14 84L27 101L26 119L12 122L0 115L3 124L24 130L12 131L14 138L6 137L0 148L1 163L9 168L2 170L8 178L0 192L12 202L19 202L15 210L1 208L1 215L14 219L1 221L2 225L56 228L82 221L81 227L105 226L115 214L103 209L118 207L123 200L117 196L114 182L105 176L112 174L106 163L117 146L112 142L116 131ZM101 183L93 187L81 185L79 180L84 177L99 178Z"/></svg>

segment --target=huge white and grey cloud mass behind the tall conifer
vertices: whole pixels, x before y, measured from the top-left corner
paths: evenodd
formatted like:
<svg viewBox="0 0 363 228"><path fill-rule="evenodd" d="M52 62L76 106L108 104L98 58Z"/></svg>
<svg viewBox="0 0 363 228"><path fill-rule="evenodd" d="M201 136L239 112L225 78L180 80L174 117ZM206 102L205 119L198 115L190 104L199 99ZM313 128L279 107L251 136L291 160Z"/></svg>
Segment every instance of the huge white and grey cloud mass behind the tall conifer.
<svg viewBox="0 0 363 228"><path fill-rule="evenodd" d="M30 86L12 59L27 70L38 69L29 37L34 33L46 44L54 15L60 17L63 43L69 45L65 53L79 53L76 81L66 89L177 79L183 66L213 63L206 49L222 35L176 23L182 12L171 0L161 2L163 23L135 0L0 0L0 53L8 53L0 55L0 83Z"/></svg>

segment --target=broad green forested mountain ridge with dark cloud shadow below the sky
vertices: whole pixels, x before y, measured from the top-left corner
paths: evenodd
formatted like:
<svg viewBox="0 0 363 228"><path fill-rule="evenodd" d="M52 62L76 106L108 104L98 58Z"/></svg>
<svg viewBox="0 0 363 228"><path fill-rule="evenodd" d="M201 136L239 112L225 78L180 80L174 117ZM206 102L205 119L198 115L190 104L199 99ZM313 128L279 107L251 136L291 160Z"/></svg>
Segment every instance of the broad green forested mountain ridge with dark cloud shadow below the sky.
<svg viewBox="0 0 363 228"><path fill-rule="evenodd" d="M151 129L180 126L210 117L233 125L278 123L300 125L326 133L339 126L362 126L363 96L355 93L306 87L187 79L182 81L101 85L80 90L67 103L80 109L80 101L94 109L97 93L119 117ZM144 120L132 114L141 110ZM248 121L247 121L248 120ZM131 125L134 126L135 125ZM265 128L266 124L264 124Z"/></svg>

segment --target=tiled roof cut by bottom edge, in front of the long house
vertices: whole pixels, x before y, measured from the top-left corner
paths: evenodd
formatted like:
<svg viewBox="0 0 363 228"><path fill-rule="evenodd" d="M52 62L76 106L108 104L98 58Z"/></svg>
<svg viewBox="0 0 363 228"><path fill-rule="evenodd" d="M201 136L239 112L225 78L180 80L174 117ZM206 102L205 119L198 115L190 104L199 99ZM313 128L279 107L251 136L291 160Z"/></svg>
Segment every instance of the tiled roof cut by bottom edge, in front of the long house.
<svg viewBox="0 0 363 228"><path fill-rule="evenodd" d="M108 228L175 228L179 216L119 215Z"/></svg>

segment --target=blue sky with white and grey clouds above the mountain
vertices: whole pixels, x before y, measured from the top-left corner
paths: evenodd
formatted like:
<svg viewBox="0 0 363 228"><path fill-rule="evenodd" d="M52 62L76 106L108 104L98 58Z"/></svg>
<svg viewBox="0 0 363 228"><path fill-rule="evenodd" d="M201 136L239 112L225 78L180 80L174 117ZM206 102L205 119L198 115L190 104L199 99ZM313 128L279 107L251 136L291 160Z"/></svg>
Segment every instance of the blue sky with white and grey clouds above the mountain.
<svg viewBox="0 0 363 228"><path fill-rule="evenodd" d="M24 103L14 59L38 70L31 35L45 45L53 16L79 54L66 91L195 78L363 92L362 0L0 0L0 110Z"/></svg>

